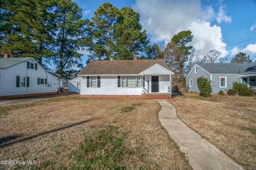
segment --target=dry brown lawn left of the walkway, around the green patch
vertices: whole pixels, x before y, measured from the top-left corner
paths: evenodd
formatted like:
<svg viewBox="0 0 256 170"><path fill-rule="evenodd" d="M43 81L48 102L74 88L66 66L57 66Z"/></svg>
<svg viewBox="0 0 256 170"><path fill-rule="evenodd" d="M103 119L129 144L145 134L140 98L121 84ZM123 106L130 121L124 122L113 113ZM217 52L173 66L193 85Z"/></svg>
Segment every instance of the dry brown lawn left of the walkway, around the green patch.
<svg viewBox="0 0 256 170"><path fill-rule="evenodd" d="M122 112L125 107L133 107ZM85 136L102 127L126 132L127 169L191 169L158 122L154 100L61 97L0 107L0 159L36 160L6 169L69 169ZM102 151L104 152L104 150ZM100 160L99 160L100 161ZM0 167L1 169L1 167Z"/></svg>

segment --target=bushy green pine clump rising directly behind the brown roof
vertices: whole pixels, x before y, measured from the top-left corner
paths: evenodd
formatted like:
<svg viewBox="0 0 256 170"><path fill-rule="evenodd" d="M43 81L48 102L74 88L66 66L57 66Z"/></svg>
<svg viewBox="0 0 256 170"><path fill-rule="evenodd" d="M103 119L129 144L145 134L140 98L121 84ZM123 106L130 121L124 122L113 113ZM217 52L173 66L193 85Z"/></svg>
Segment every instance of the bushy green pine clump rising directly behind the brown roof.
<svg viewBox="0 0 256 170"><path fill-rule="evenodd" d="M89 60L126 60L144 52L149 41L146 31L141 31L139 14L129 7L118 10L105 2L87 20L86 46Z"/></svg>

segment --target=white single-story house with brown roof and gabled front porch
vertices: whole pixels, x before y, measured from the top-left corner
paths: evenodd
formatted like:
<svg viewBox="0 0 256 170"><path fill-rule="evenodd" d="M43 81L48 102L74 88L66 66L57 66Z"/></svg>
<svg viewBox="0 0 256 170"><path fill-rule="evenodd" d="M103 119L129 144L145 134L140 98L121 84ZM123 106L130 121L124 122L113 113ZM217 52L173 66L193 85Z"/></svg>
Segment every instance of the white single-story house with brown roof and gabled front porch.
<svg viewBox="0 0 256 170"><path fill-rule="evenodd" d="M164 60L92 61L78 73L85 97L170 98L171 75Z"/></svg>

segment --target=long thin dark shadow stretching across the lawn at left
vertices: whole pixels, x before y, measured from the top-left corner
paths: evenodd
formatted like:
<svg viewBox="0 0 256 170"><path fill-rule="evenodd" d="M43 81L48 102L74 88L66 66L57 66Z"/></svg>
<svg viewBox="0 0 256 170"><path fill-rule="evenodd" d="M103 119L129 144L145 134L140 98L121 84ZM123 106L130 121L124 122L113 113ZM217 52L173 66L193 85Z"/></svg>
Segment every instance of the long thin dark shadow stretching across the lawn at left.
<svg viewBox="0 0 256 170"><path fill-rule="evenodd" d="M9 143L7 143L7 142L10 141L10 140L19 138L19 135L12 135L12 136L9 136L9 137L0 138L0 148L13 145L14 143L30 140L30 139L33 139L33 138L36 138L36 137L39 137L39 136L42 136L42 135L45 135L45 134L49 134L49 133L57 132L57 131L60 131L60 130L63 130L63 129L71 128L73 126L78 126L78 125L81 125L83 123L90 122L94 119L95 118L90 118L89 120L85 120L85 121L82 121L82 122L78 122L78 123L70 124L70 125L67 125L67 126L63 126L61 128L57 128L57 129L53 129L53 130L50 130L50 131L45 131L45 132L42 132L42 133L31 135L30 137L26 137L26 138L23 138L23 139L20 139L20 140L15 140L15 141L12 141L12 142L9 142Z"/></svg>

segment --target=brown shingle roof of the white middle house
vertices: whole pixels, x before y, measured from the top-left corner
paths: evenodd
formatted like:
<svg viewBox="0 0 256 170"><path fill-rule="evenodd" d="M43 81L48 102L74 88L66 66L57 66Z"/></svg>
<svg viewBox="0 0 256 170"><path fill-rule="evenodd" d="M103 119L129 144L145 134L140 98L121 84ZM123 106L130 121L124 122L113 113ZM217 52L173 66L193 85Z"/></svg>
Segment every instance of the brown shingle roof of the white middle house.
<svg viewBox="0 0 256 170"><path fill-rule="evenodd" d="M91 61L78 73L83 74L139 74L154 64L170 70L164 60L104 60ZM170 70L171 71L171 70Z"/></svg>

